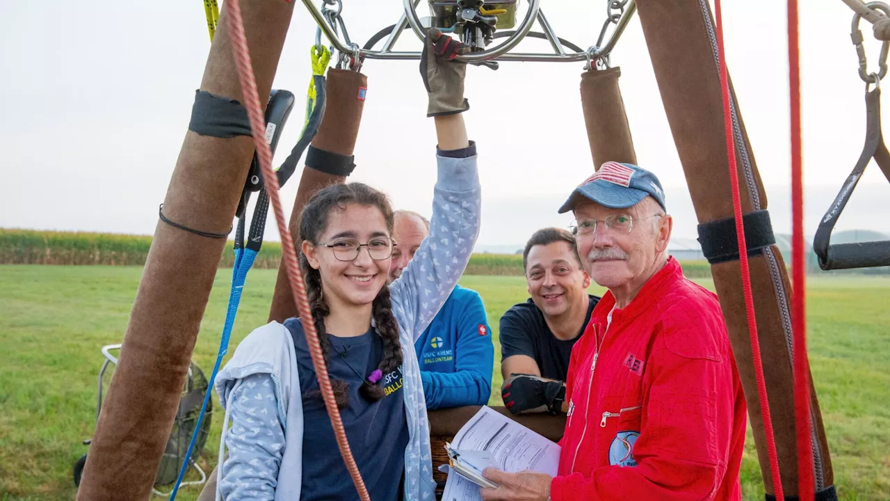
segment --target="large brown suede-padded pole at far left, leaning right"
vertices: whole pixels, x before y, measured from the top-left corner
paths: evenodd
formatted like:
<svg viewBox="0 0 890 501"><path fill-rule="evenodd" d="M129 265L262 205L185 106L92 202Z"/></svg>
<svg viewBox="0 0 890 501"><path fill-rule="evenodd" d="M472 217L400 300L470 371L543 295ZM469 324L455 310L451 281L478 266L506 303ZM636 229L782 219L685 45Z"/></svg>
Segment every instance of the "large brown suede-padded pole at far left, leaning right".
<svg viewBox="0 0 890 501"><path fill-rule="evenodd" d="M294 3L242 0L247 43L266 103ZM201 90L241 99L223 4ZM210 233L231 228L254 146L188 131L164 200L166 218ZM148 499L173 427L225 239L158 222L117 367L77 492L80 501Z"/></svg>

